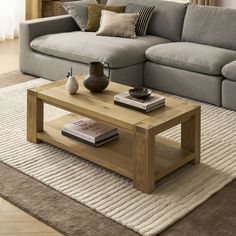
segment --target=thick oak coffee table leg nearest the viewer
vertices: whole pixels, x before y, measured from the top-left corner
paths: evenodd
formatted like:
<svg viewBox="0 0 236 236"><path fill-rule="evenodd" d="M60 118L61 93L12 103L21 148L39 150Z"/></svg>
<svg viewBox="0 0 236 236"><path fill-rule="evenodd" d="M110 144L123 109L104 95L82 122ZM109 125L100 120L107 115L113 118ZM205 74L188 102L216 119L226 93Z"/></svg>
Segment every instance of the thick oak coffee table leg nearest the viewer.
<svg viewBox="0 0 236 236"><path fill-rule="evenodd" d="M134 187L144 193L155 189L155 137L145 129L136 127L134 134Z"/></svg>

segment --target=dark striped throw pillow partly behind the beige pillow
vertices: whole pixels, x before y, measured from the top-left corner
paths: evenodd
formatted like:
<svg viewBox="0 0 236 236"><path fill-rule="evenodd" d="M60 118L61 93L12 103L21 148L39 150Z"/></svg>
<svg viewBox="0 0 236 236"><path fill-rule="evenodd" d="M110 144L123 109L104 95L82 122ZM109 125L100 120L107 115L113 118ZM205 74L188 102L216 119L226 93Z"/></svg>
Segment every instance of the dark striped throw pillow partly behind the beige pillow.
<svg viewBox="0 0 236 236"><path fill-rule="evenodd" d="M136 34L139 36L146 35L149 21L151 20L152 14L155 10L154 6L144 6L134 3L128 3L125 9L126 13L137 13L139 14L138 22L136 25Z"/></svg>

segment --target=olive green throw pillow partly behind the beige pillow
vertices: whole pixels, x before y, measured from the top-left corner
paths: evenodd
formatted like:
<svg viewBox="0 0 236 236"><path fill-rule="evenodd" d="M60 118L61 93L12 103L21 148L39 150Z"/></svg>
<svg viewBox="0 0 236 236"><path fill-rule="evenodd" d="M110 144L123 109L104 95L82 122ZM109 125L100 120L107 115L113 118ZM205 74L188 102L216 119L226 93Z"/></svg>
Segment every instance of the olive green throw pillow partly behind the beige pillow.
<svg viewBox="0 0 236 236"><path fill-rule="evenodd" d="M99 5L99 4L89 4L88 5L88 23L84 31L96 32L98 30L100 26L102 10L123 13L125 11L125 6L107 6L107 5Z"/></svg>

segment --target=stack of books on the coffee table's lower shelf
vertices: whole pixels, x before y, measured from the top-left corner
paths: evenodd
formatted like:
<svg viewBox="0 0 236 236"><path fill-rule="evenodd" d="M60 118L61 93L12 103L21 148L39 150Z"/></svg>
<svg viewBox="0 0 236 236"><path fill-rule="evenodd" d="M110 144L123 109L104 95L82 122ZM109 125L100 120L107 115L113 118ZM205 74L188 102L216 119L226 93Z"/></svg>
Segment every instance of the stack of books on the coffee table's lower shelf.
<svg viewBox="0 0 236 236"><path fill-rule="evenodd" d="M64 125L62 135L99 147L119 137L117 128L83 117Z"/></svg>

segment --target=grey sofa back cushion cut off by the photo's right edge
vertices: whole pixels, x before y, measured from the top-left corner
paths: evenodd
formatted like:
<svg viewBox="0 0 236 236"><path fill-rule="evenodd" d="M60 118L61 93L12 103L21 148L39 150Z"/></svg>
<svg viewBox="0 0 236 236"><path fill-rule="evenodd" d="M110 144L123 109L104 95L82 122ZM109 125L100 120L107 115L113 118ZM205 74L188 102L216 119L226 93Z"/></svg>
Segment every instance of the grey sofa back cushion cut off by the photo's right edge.
<svg viewBox="0 0 236 236"><path fill-rule="evenodd" d="M236 50L236 10L189 5L182 41Z"/></svg>

